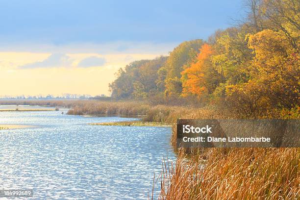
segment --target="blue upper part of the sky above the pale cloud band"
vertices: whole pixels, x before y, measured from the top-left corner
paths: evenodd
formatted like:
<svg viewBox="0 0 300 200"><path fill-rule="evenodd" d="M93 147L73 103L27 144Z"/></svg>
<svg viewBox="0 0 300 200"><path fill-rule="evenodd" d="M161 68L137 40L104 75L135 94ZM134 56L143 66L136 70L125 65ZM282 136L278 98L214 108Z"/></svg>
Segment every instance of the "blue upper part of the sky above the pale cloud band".
<svg viewBox="0 0 300 200"><path fill-rule="evenodd" d="M0 41L180 43L228 27L241 8L242 0L0 0Z"/></svg>

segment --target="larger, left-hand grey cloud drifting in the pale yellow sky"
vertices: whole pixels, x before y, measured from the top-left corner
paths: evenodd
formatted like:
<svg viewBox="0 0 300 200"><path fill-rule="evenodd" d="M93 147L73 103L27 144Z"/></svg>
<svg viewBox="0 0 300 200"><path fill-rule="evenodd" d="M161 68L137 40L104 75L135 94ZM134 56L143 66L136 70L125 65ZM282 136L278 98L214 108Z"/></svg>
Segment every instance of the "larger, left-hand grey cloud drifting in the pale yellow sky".
<svg viewBox="0 0 300 200"><path fill-rule="evenodd" d="M48 58L40 62L29 63L20 66L20 69L69 67L73 59L64 53L52 53Z"/></svg>

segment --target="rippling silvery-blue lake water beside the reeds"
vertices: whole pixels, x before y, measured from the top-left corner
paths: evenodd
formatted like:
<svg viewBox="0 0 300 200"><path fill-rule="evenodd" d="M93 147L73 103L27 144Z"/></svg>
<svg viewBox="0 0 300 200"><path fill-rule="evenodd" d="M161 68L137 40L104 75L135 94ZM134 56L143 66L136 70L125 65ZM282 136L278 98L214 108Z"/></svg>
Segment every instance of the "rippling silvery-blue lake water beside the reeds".
<svg viewBox="0 0 300 200"><path fill-rule="evenodd" d="M66 111L66 110L65 110ZM175 160L170 127L87 125L127 121L60 111L0 112L0 189L33 189L30 199L147 199L161 159Z"/></svg>

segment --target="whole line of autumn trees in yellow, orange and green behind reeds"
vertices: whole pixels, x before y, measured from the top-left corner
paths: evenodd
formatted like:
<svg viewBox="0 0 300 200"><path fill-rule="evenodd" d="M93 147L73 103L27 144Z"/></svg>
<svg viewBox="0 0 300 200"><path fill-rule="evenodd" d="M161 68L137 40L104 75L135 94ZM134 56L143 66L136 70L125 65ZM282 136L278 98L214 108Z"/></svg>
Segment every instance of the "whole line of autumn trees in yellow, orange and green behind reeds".
<svg viewBox="0 0 300 200"><path fill-rule="evenodd" d="M250 12L238 25L120 69L112 98L193 99L244 116L299 117L300 1L246 3Z"/></svg>

